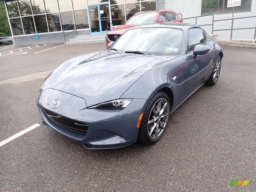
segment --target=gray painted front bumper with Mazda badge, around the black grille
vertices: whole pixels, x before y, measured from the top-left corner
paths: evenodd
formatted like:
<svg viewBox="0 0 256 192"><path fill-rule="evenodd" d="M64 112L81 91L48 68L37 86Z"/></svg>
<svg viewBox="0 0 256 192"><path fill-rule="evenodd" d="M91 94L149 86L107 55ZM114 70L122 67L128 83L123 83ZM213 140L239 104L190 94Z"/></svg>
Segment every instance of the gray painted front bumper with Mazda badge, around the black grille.
<svg viewBox="0 0 256 192"><path fill-rule="evenodd" d="M136 128L136 125L139 115L145 111L147 99L133 99L123 110L98 110L83 108L83 105L79 106L77 103L72 103L72 101L82 103L84 101L82 98L57 90L50 92L54 94L47 94L47 97L42 97L39 92L37 105L43 121L60 134L82 142L87 149L118 148L137 141L139 129ZM56 99L56 95L63 105L60 104L58 108L51 108L50 104ZM42 109L71 121L88 125L87 134L81 135L63 128L60 124L52 121Z"/></svg>

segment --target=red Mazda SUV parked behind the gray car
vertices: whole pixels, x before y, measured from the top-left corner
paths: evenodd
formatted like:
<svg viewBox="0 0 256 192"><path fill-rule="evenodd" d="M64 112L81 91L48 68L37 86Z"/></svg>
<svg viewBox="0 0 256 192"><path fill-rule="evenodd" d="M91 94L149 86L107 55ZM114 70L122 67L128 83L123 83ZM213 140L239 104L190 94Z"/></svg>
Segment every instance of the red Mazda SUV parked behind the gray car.
<svg viewBox="0 0 256 192"><path fill-rule="evenodd" d="M163 22L183 22L179 15L170 10L160 11L143 11L133 15L124 25L120 25L111 29L106 34L106 48L109 48L109 43L116 41L125 31L136 25L163 23Z"/></svg>

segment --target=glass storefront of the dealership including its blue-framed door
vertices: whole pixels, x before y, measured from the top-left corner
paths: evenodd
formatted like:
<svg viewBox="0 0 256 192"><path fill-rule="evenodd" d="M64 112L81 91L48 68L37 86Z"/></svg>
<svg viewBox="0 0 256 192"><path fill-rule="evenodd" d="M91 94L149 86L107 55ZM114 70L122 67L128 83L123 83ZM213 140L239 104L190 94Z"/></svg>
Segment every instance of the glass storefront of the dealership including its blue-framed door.
<svg viewBox="0 0 256 192"><path fill-rule="evenodd" d="M90 6L93 5L93 6ZM156 10L144 0L6 0L13 35L90 29L105 33L140 11Z"/></svg>

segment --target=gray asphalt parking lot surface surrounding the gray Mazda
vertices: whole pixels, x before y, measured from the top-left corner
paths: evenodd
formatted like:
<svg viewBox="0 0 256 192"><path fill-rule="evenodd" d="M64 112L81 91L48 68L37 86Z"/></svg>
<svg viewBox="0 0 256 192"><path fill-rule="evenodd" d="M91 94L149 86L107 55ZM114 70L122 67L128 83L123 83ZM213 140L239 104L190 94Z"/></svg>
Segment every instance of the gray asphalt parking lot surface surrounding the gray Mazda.
<svg viewBox="0 0 256 192"><path fill-rule="evenodd" d="M36 97L53 69L105 49L62 45L0 47L0 142L41 123ZM256 50L221 47L217 84L180 105L155 145L86 150L38 126L0 146L0 191L256 191Z"/></svg>

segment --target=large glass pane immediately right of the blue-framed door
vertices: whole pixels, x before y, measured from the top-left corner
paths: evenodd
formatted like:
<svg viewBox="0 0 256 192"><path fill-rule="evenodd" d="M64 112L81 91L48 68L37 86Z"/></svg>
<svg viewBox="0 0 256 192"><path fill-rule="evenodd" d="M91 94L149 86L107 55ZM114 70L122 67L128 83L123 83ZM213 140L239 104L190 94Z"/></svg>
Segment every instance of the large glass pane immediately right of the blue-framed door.
<svg viewBox="0 0 256 192"><path fill-rule="evenodd" d="M125 23L124 5L111 5L110 9L112 24L123 25Z"/></svg>

